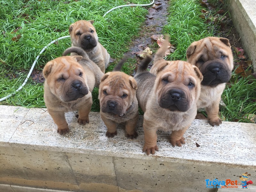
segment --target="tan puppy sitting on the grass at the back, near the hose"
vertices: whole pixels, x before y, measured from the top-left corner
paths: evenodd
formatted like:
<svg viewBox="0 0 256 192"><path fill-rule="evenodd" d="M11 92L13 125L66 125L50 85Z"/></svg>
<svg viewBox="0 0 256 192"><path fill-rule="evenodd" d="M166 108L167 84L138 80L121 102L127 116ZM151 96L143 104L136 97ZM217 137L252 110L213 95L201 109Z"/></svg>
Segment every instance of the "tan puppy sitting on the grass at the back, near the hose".
<svg viewBox="0 0 256 192"><path fill-rule="evenodd" d="M88 54L89 58L96 63L101 71L109 65L109 54L107 50L98 42L98 36L93 27L93 20L79 20L69 26L72 46L81 47ZM75 54L71 54L72 56Z"/></svg>

